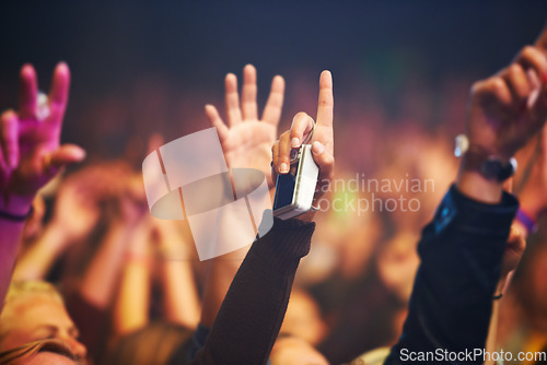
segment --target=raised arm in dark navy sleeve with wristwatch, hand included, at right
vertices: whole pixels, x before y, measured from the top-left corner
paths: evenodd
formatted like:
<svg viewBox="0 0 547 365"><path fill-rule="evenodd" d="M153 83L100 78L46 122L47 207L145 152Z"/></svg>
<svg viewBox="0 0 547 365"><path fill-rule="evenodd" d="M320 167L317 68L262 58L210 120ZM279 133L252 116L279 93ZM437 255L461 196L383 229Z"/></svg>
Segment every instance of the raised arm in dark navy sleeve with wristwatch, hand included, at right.
<svg viewBox="0 0 547 365"><path fill-rule="evenodd" d="M547 118L545 46L547 28L534 47L472 89L469 148L456 185L423 229L409 314L386 364L424 363L427 353L433 356L430 362L449 364L485 360L479 351L519 208L503 192L508 164ZM492 162L496 168L488 168ZM459 357L447 358L446 352Z"/></svg>

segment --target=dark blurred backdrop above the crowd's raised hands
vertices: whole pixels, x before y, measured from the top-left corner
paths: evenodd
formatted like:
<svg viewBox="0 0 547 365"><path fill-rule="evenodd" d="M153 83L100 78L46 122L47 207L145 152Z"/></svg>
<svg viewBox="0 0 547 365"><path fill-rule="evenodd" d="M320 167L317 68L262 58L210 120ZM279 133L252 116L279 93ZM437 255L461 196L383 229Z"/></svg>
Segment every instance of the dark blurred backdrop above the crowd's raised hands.
<svg viewBox="0 0 547 365"><path fill-rule="evenodd" d="M4 3L0 108L16 105L24 62L47 90L65 60L72 90L63 139L116 156L133 137L142 145L153 131L168 141L208 127L202 107L222 107L225 73L253 63L260 105L271 78L286 76L282 128L300 109L315 113L323 69L333 71L339 128L360 121L348 110L370 104L389 123L414 87L433 109L439 90L454 84L446 80L465 98L472 81L535 39L546 16L546 1ZM438 110L420 122L445 117Z"/></svg>

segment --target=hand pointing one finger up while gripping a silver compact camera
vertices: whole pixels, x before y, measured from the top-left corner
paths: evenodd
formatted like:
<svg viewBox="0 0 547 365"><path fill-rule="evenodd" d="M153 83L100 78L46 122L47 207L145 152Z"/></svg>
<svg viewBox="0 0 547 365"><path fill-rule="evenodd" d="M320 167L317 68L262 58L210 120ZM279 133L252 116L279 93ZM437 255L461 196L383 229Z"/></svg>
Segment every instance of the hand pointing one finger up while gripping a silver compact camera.
<svg viewBox="0 0 547 365"><path fill-rule="evenodd" d="M309 142L312 144L312 154L315 163L319 167L319 176L317 178L317 187L312 205L317 204L321 197L324 195L326 187L330 184L334 174L335 156L334 156L334 129L333 129L333 76L330 71L323 71L319 78L319 98L317 105L317 121L315 122L311 116L301 111L292 119L291 129L283 132L274 146L272 154L272 178L274 181L278 174L288 174L290 170L290 155L292 149L298 149L305 142L306 138L312 133L313 138ZM311 211L299 219L310 221L313 219L314 212Z"/></svg>

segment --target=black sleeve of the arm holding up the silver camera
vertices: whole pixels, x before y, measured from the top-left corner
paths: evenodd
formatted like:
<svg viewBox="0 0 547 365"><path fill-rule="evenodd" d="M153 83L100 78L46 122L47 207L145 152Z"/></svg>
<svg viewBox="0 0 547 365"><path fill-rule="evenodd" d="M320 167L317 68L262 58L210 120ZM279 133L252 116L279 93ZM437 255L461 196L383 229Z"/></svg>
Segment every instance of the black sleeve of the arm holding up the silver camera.
<svg viewBox="0 0 547 365"><path fill-rule="evenodd" d="M266 364L314 229L315 223L275 219L247 252L203 349L190 364ZM183 358L175 355L171 364L184 364Z"/></svg>

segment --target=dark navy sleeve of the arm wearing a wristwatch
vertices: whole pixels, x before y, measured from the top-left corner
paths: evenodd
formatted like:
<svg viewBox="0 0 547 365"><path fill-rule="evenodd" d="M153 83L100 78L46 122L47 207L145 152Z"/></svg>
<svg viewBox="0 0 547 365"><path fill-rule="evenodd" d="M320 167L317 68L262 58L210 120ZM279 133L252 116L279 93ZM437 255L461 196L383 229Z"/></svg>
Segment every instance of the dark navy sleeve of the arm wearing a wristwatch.
<svg viewBox="0 0 547 365"><path fill-rule="evenodd" d="M492 295L519 202L503 193L499 204L466 198L453 186L423 228L403 334L385 364L481 364ZM446 352L452 358L446 361ZM430 358L423 358L429 353Z"/></svg>

